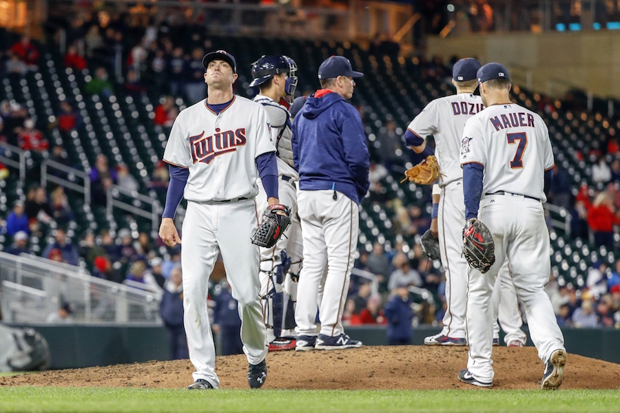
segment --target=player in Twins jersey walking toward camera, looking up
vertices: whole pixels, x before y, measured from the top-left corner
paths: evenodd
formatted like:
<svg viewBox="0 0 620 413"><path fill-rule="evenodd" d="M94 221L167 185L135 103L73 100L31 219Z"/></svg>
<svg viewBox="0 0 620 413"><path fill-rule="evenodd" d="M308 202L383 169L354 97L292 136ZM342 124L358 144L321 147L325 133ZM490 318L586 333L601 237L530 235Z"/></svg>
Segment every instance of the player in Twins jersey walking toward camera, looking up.
<svg viewBox="0 0 620 413"><path fill-rule="evenodd" d="M234 56L218 50L203 58L208 97L184 109L174 121L163 160L170 184L159 235L167 246L180 244L174 213L187 200L183 220L183 308L190 390L218 388L215 347L207 314L207 283L222 254L231 293L239 304L241 341L251 388L267 378L267 335L258 292L259 251L251 243L258 225L254 198L258 176L270 205L278 204L276 148L262 105L233 94Z"/></svg>

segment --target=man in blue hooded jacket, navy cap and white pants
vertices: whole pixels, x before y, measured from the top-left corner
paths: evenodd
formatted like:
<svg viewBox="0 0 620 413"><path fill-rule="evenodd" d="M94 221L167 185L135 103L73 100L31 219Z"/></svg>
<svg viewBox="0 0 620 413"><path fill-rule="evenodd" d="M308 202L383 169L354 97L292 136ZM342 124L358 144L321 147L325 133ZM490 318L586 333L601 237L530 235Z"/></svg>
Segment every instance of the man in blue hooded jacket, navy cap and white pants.
<svg viewBox="0 0 620 413"><path fill-rule="evenodd" d="M295 321L296 350L354 348L342 328L344 301L358 244L359 204L368 191L369 155L362 118L347 102L355 72L344 56L321 63L321 89L293 120L293 160L299 171L298 213L304 240ZM320 299L321 329L316 312Z"/></svg>

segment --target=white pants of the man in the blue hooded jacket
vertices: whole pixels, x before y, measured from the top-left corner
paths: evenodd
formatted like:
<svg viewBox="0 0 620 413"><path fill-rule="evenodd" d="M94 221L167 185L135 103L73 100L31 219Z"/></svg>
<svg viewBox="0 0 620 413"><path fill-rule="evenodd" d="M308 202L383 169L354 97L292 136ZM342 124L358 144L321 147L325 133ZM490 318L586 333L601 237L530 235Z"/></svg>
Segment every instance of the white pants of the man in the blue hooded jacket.
<svg viewBox="0 0 620 413"><path fill-rule="evenodd" d="M358 204L334 191L298 191L304 240L304 271L299 278L295 321L298 335L316 336L317 308L320 333L344 332L342 312L358 245Z"/></svg>

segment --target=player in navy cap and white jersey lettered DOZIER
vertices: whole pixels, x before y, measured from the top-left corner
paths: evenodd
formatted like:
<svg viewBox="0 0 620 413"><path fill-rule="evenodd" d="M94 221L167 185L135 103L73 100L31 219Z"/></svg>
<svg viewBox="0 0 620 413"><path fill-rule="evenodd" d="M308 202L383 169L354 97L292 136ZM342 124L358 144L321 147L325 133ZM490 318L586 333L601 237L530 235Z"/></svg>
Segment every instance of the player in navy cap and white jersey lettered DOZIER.
<svg viewBox="0 0 620 413"><path fill-rule="evenodd" d="M480 66L476 59L465 58L457 61L452 70L452 83L457 94L432 100L409 123L405 132L407 145L413 149L414 156L419 158L419 161L433 153L424 140L426 136L433 135L435 156L443 174L439 183L433 185L431 233L438 238L440 244L442 266L446 274L448 307L444 314L442 331L437 335L426 337L424 344L427 346L464 346L466 344L465 311L468 265L462 255L461 227L465 218L465 204L459 151L465 122L484 109L480 96L473 94L478 85L476 72ZM500 274L502 288L496 288L493 293L495 319L497 319L497 306L499 306L499 318L506 332L506 343L519 346L525 343L526 335L520 329L523 321L507 263ZM495 322L493 338L494 343L499 344L497 322Z"/></svg>

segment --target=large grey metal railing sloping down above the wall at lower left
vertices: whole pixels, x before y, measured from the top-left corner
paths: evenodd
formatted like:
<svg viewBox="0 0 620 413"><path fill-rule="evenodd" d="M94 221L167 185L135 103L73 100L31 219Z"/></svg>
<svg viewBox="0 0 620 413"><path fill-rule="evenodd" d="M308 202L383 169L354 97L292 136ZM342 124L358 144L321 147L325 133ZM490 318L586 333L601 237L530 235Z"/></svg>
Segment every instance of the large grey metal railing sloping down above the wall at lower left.
<svg viewBox="0 0 620 413"><path fill-rule="evenodd" d="M161 293L92 277L84 268L0 252L3 321L48 321L64 304L74 323L161 324Z"/></svg>

